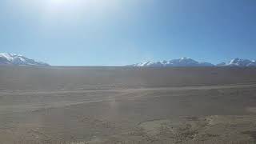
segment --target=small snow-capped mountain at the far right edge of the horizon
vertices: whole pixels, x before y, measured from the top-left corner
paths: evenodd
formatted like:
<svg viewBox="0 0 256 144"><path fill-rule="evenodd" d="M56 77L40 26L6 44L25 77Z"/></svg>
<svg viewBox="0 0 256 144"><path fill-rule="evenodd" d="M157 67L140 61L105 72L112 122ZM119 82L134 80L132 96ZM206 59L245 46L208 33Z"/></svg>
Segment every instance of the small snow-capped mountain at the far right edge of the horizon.
<svg viewBox="0 0 256 144"><path fill-rule="evenodd" d="M230 62L222 62L217 66L256 66L256 62L249 59L234 58Z"/></svg>

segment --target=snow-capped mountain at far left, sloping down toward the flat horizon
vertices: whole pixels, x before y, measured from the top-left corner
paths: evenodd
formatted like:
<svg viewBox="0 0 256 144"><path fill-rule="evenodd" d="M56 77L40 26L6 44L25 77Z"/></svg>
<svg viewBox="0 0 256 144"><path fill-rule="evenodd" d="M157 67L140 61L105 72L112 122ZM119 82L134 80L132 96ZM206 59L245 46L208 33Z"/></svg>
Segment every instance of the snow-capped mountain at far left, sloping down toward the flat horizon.
<svg viewBox="0 0 256 144"><path fill-rule="evenodd" d="M19 54L0 53L0 65L14 66L50 66L45 62L37 62Z"/></svg>

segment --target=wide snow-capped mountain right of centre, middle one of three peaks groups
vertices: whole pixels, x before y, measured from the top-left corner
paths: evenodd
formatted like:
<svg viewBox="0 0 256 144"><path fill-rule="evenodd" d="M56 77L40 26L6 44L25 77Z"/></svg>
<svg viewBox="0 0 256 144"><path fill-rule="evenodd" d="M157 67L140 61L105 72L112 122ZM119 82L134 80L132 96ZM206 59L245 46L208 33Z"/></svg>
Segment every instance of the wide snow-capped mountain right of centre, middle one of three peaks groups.
<svg viewBox="0 0 256 144"><path fill-rule="evenodd" d="M209 62L197 62L191 58L179 58L162 62L142 62L130 66L171 67L171 66L214 66Z"/></svg>

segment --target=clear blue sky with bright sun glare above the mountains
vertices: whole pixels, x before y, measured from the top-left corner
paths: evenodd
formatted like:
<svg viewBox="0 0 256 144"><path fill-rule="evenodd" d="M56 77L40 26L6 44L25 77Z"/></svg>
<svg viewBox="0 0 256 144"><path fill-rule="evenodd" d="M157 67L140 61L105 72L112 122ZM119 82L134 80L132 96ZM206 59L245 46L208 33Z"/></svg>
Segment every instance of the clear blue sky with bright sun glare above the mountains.
<svg viewBox="0 0 256 144"><path fill-rule="evenodd" d="M0 0L0 52L54 66L256 59L256 1Z"/></svg>

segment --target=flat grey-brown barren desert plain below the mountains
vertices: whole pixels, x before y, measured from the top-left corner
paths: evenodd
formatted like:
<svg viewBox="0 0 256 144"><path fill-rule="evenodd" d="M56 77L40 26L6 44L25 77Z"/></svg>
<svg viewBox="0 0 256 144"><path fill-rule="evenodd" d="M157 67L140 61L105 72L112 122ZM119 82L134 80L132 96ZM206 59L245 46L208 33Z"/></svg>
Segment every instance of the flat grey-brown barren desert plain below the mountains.
<svg viewBox="0 0 256 144"><path fill-rule="evenodd" d="M256 68L0 67L0 144L255 140Z"/></svg>

